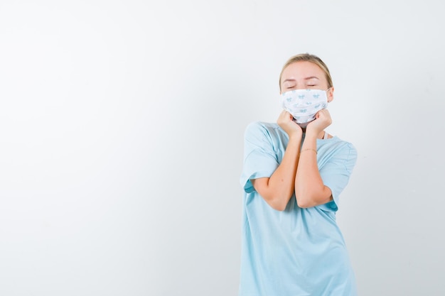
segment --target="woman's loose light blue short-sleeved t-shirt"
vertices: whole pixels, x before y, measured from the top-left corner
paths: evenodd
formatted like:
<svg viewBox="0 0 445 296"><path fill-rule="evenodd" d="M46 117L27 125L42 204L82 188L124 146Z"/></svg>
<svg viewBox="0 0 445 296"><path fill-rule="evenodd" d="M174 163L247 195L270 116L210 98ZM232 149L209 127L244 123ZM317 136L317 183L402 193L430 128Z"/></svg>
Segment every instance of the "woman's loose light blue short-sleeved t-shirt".
<svg viewBox="0 0 445 296"><path fill-rule="evenodd" d="M304 209L293 196L280 212L250 180L272 175L288 141L277 124L254 122L245 131L239 295L355 296L355 277L336 211L357 160L356 150L336 136L317 140L318 170L333 201Z"/></svg>

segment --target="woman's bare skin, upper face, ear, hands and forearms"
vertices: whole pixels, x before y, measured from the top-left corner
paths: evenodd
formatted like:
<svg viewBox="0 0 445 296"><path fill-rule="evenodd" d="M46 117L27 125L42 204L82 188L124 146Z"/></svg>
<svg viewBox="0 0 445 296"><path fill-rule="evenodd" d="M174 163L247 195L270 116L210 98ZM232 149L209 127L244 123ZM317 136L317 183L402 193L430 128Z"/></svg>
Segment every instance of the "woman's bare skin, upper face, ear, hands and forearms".
<svg viewBox="0 0 445 296"><path fill-rule="evenodd" d="M281 92L292 89L327 89L328 102L333 100L333 87L328 89L325 73L312 62L294 62L284 69ZM314 151L317 138L323 138L324 129L332 123L331 115L326 109L320 110L315 119L304 126L292 119L287 111L282 111L277 119L277 124L289 136L282 163L271 177L251 180L255 190L278 211L286 209L293 194L301 208L316 207L332 200L331 189L323 184L318 171ZM306 136L301 146L304 132Z"/></svg>

